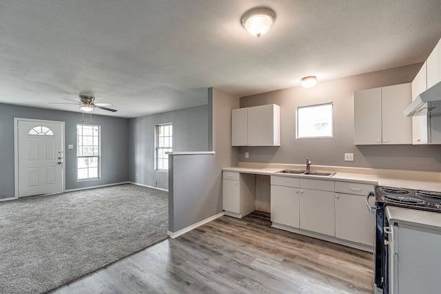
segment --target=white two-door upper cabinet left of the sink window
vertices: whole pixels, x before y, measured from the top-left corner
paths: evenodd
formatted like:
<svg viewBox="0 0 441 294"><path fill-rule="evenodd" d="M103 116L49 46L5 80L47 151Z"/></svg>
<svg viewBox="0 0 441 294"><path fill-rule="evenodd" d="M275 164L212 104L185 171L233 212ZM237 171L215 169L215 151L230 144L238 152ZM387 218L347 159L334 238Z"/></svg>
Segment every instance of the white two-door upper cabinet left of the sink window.
<svg viewBox="0 0 441 294"><path fill-rule="evenodd" d="M280 107L233 109L232 146L280 146Z"/></svg>

